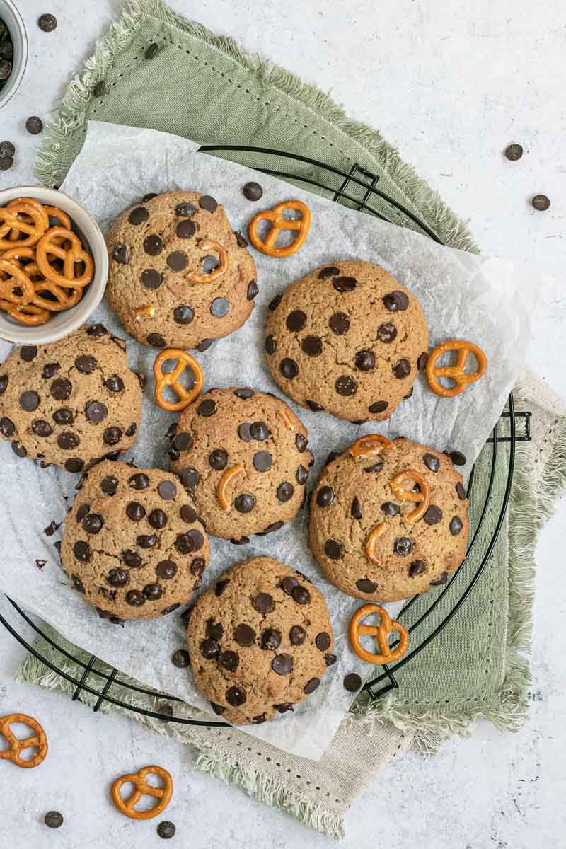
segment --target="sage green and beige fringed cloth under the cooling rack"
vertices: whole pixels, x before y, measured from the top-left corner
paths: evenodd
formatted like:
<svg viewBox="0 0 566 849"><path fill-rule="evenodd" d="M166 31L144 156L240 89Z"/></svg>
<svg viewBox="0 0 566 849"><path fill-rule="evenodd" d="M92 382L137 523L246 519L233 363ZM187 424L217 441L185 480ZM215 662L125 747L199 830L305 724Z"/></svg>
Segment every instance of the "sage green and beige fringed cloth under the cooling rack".
<svg viewBox="0 0 566 849"><path fill-rule="evenodd" d="M246 55L232 39L216 37L184 20L160 0L137 0L126 6L70 83L48 128L48 142L37 156L36 173L43 183L62 182L81 149L90 119L151 127L200 143L283 149L342 171L361 166L379 177L384 194L423 220L447 245L475 250L465 225L377 131L350 121L317 88ZM283 160L227 155L245 165L284 170ZM295 171L328 184L328 173L317 166L302 163ZM341 182L341 177L335 177L330 185L338 188ZM361 197L361 192L352 188L354 197ZM373 202L373 206L390 216L389 205ZM403 215L396 222L414 226ZM319 762L258 744L238 728L197 728L130 712L128 716L191 744L196 767L335 837L344 834L350 802L410 746L435 751L451 734L472 728L477 717L488 718L498 728L518 729L525 717L529 685L533 554L537 532L566 482L566 416L561 402L530 374L518 385L515 403L518 410L532 413L534 439L518 446L509 509L473 592L440 637L397 674L398 690L377 702L361 701L353 707ZM505 424L500 424L500 430L505 430ZM475 554L451 582L427 620L423 636L446 616L479 565L478 555L493 532L505 492L508 452L508 446L498 446L490 506ZM477 493L486 490L491 456L492 448L485 447L476 464ZM476 526L483 499L473 498L472 503ZM433 591L434 597L441 589ZM405 624L412 624L427 610L431 597L418 599ZM58 634L52 636L65 645ZM412 646L417 644L418 638L413 638ZM66 647L72 654L79 652ZM42 641L39 648L53 657L48 644ZM60 658L57 664L60 667ZM64 671L80 677L74 667L67 661ZM31 656L20 678L68 693L75 689ZM113 694L149 710L159 710L167 701L157 694L132 696L120 687ZM92 703L96 697L83 694L81 698ZM195 714L180 702L171 701L171 706L176 716ZM104 706L103 710L120 709Z"/></svg>

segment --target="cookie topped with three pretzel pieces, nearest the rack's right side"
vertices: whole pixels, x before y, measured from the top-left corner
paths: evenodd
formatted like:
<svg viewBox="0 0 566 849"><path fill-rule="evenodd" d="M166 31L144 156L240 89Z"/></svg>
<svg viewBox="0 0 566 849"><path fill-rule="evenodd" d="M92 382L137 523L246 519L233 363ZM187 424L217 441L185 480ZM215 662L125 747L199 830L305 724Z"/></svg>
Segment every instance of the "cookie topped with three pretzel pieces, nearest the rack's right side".
<svg viewBox="0 0 566 849"><path fill-rule="evenodd" d="M415 521L407 516L418 503L401 500L390 486L406 469L429 484L429 506ZM340 454L322 469L312 494L312 553L328 580L358 599L395 601L446 583L467 541L462 475L446 454L409 439L371 457Z"/></svg>

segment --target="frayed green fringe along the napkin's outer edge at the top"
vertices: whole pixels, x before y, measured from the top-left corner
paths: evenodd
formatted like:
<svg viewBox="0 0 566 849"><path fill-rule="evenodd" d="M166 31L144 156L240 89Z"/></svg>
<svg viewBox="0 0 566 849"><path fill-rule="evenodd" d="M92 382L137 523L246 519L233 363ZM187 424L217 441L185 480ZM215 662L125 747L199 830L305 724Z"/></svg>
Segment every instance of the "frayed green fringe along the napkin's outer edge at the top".
<svg viewBox="0 0 566 849"><path fill-rule="evenodd" d="M397 149L385 141L378 130L361 121L352 121L345 110L317 86L303 82L298 76L269 59L247 53L231 37L216 36L205 26L173 12L161 0L132 0L127 3L120 20L109 27L104 37L97 42L94 53L85 62L83 70L72 78L59 111L46 127L45 142L36 155L36 177L41 183L55 186L63 182L62 149L65 140L85 125L93 87L104 80L104 76L112 68L115 56L126 48L148 16L210 44L266 85L276 87L289 98L316 112L373 157L378 170L387 173L407 204L412 205L417 214L423 216L443 242L462 250L478 250L462 219L451 211L438 192L417 176L412 166L401 160Z"/></svg>

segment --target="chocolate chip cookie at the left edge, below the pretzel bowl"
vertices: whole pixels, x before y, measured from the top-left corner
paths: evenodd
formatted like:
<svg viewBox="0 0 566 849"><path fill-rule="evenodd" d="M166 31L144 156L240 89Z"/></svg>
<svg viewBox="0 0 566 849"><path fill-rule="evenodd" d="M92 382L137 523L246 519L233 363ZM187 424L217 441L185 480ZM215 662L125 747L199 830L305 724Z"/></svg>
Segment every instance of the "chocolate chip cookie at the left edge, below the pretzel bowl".
<svg viewBox="0 0 566 849"><path fill-rule="evenodd" d="M132 447L142 388L125 349L102 324L14 347L0 366L0 437L18 457L68 472Z"/></svg>

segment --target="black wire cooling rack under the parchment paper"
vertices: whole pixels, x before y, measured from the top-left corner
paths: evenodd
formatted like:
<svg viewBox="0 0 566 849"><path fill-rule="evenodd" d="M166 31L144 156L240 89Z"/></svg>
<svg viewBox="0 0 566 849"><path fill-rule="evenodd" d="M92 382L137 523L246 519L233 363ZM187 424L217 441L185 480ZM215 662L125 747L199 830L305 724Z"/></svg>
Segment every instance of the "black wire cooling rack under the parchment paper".
<svg viewBox="0 0 566 849"><path fill-rule="evenodd" d="M331 198L336 203L344 204L350 206L350 208L366 212L369 215L377 216L382 221L395 223L401 227L411 228L416 230L418 233L423 233L424 235L429 236L430 239L434 239L434 241L438 242L438 244L443 244L438 234L434 233L434 231L429 228L427 224L414 212L408 209L406 205L402 204L400 200L391 197L379 188L379 177L377 175L372 174L370 171L367 171L367 169L362 168L359 165L353 165L350 168L350 171L343 171L340 168L319 162L318 160L310 159L306 156L295 155L281 150L247 147L244 145L210 145L201 147L200 151L212 155L224 155L227 156L227 158L243 160L246 165L255 167L256 171L261 171L261 173L269 174L272 177L280 177L289 183L294 183L295 185L300 186L300 188L306 188L311 191L316 190L317 194L322 194L323 196ZM277 169L269 166L269 161L274 157L278 160ZM289 170L282 170L282 160L283 165L287 165L289 163ZM305 171L308 170L308 176L306 173L301 174L301 169ZM313 174L316 175L316 179L313 177ZM494 427L490 439L487 440L487 443L490 446L490 473L487 486L485 486L485 490L483 492L479 492L479 486L474 486L474 469L472 469L471 474L469 475L467 492L468 501L470 504L474 504L474 507L479 510L479 520L475 527L473 537L468 545L466 559L463 561L462 565L459 566L457 571L454 572L454 575L451 577L451 581L446 584L445 588L434 596L433 593L429 593L430 604L427 609L424 610L423 614L417 618L417 621L414 621L411 627L407 629L410 634L417 635L418 644L415 648L406 652L406 654L403 655L395 664L390 666L381 666L380 668L383 672L380 672L376 678L373 678L373 680L368 681L364 685L363 691L366 691L371 698L378 699L385 693L388 693L389 690L395 689L399 686L395 678L395 672L405 666L406 663L411 662L413 658L415 658L424 648L426 648L426 646L429 645L429 643L432 642L432 640L434 640L434 638L438 637L448 622L451 621L452 617L457 614L458 610L460 610L462 604L464 604L468 595L472 592L482 571L485 569L485 565L490 559L490 555L496 545L497 537L502 529L507 505L509 503L509 495L513 482L516 443L530 441L531 439L530 415L530 412L517 412L515 410L513 393L511 393L507 401L507 410L502 413L502 418ZM506 429L507 432L504 431L505 422L508 423L508 427ZM519 430L521 432L518 432ZM505 457L502 457L502 452L498 453L498 446L502 443L508 443L509 445L508 455ZM499 497L499 502L495 503L496 497L493 494L493 484L496 479L498 463L506 464L506 482L502 496ZM480 537L480 531L484 527L485 520L488 515L488 509L491 520L493 521L493 530L490 535L488 535L488 538L485 539L483 535ZM479 550L479 546L482 546L483 550ZM479 556L479 565L477 566L474 574L468 578L468 582L465 583L458 579L464 574L462 573L462 568L473 551L474 555ZM430 621L430 615L438 604L440 604L442 599L444 599L446 593L451 593L449 598L453 597L451 608L448 610L442 621L440 621L436 627L432 628L432 630L429 629L429 633L426 633L427 625ZM402 621L403 618L406 617L407 612L411 610L412 605L417 601L417 599L422 599L422 596L413 596L413 598L406 603L403 610L401 610L399 616L397 616L398 620ZM123 678L119 678L118 670L111 669L108 671L108 666L99 661L96 655L91 655L90 658L87 659L84 654L83 657L71 654L69 651L56 644L48 633L43 632L42 627L37 625L36 622L33 621L27 613L25 613L25 610L22 610L19 604L16 604L13 599L8 598L8 601L12 605L17 616L20 616L20 620L25 621L25 623L30 626L38 636L51 646L54 652L53 660L43 655L34 644L29 643L23 634L19 632L18 627L9 622L1 614L0 622L8 629L8 632L11 633L13 637L25 647L25 649L31 652L32 655L42 661L53 672L57 672L68 683L75 686L73 700L79 699L81 693L86 692L96 697L92 706L92 709L95 712L100 709L104 702L106 702L108 704L124 708L127 711L135 711L136 713L143 714L147 717L161 719L163 722L177 722L183 725L201 725L209 728L227 725L226 722L212 722L186 717L174 717L171 716L170 712L150 711L149 709L129 704L116 694L116 688L120 687L121 690L125 690L132 695L143 694L153 698L163 698L167 702L181 700L168 694L160 694L154 689L137 687L135 684L129 683ZM20 620L17 622L20 623ZM391 644L391 648L395 648L396 645L397 641ZM71 675L62 668L59 668L58 662L59 664L62 664L64 659L72 661L79 667L81 670L80 678ZM98 683L98 687L92 683L94 680ZM114 694L111 692L113 688L115 689Z"/></svg>

